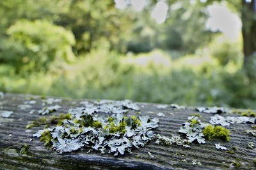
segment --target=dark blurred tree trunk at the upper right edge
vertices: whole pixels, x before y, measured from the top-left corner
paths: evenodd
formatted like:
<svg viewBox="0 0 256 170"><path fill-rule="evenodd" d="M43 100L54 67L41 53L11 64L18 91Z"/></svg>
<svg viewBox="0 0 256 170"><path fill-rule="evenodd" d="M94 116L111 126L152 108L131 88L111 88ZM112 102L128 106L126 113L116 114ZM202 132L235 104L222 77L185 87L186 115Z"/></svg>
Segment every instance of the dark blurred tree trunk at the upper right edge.
<svg viewBox="0 0 256 170"><path fill-rule="evenodd" d="M244 67L250 62L250 56L256 52L256 6L255 0L246 3L242 0L241 19L243 33Z"/></svg>

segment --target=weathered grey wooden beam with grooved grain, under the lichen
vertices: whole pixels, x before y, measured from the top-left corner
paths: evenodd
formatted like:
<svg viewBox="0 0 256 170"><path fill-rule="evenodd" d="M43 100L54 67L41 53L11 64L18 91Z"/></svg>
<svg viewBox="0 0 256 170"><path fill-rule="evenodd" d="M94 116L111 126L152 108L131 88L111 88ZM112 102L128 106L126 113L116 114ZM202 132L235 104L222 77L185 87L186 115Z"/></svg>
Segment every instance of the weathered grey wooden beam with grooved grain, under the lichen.
<svg viewBox="0 0 256 170"><path fill-rule="evenodd" d="M35 104L24 102L31 98ZM47 97L46 97L47 98ZM33 127L26 132L26 125L29 121L42 117L37 113L30 114L30 110L40 110L42 97L24 94L5 94L0 98L0 111L13 111L10 117L0 116L0 169L232 169L234 166L241 166L239 169L255 169L256 151L248 148L249 142L256 142L256 138L245 134L246 129L252 129L251 124L232 124L230 129L230 141L221 139L207 140L204 145L191 143L191 148L184 148L177 145L156 145L151 141L144 148L134 149L132 153L125 153L124 156L114 157L111 154L100 155L98 152L87 153L81 149L76 152L59 154L47 150L44 143L33 134L44 126ZM51 115L67 113L68 109L75 106L83 106L77 99L62 99L61 109ZM180 125L187 121L188 116L196 113L202 116L202 121L209 122L212 114L198 113L195 108L187 110L175 110L168 106L158 108L157 104L138 103L140 115L148 115L150 118L159 118L159 127L154 129L155 134L170 136L177 134ZM164 117L157 116L163 113ZM132 115L136 113L128 113ZM223 116L234 116L232 113L222 113ZM32 141L30 139L33 138ZM233 146L237 147L235 154L227 153L225 150L216 150L216 143L221 143L228 150ZM24 144L31 146L30 152L20 154ZM151 153L151 155L150 155ZM200 164L193 165L194 162ZM234 164L234 162L236 162Z"/></svg>

